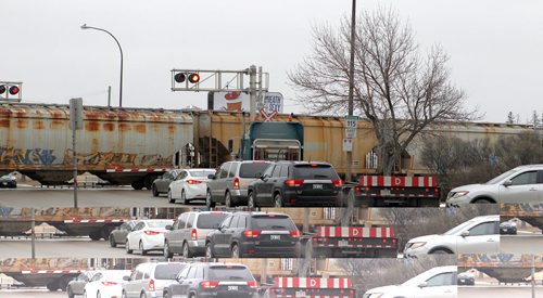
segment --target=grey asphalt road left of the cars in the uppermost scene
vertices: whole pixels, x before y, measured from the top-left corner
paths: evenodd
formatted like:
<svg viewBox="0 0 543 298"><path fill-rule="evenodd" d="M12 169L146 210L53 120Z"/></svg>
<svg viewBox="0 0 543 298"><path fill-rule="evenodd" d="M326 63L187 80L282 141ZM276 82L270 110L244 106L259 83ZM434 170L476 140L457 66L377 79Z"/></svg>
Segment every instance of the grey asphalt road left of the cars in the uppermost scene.
<svg viewBox="0 0 543 298"><path fill-rule="evenodd" d="M194 200L189 206L168 203L166 195L153 197L150 191L135 191L131 187L79 189L78 207L198 207L204 200ZM15 190L0 190L0 207L74 207L73 189L20 186Z"/></svg>

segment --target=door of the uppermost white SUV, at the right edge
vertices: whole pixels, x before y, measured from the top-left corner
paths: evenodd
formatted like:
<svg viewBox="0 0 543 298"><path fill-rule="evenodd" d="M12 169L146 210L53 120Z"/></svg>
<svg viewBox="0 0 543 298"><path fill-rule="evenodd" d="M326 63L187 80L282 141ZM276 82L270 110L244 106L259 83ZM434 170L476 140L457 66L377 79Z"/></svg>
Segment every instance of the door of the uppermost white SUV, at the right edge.
<svg viewBox="0 0 543 298"><path fill-rule="evenodd" d="M538 183L538 171L529 170L509 179L509 185L500 185L498 203L539 203L541 183Z"/></svg>

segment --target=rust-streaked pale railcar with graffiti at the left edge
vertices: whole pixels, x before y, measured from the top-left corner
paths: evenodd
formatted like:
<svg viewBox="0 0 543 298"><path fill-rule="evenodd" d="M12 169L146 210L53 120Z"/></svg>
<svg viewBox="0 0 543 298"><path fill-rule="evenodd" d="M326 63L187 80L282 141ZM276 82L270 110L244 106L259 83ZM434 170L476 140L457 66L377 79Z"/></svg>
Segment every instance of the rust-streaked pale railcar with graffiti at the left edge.
<svg viewBox="0 0 543 298"><path fill-rule="evenodd" d="M150 186L193 141L192 117L179 111L85 106L84 120L77 131L78 171L135 189ZM0 172L65 184L73 177L68 126L67 105L0 106Z"/></svg>

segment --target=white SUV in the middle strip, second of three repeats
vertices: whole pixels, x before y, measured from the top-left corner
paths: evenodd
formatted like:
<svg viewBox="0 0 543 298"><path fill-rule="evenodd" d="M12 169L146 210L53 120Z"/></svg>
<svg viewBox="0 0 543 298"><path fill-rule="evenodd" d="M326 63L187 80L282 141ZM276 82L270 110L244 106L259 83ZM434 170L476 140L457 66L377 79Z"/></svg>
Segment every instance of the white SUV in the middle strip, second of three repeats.
<svg viewBox="0 0 543 298"><path fill-rule="evenodd" d="M476 217L441 235L411 239L405 257L426 254L481 254L500 251L500 216Z"/></svg>

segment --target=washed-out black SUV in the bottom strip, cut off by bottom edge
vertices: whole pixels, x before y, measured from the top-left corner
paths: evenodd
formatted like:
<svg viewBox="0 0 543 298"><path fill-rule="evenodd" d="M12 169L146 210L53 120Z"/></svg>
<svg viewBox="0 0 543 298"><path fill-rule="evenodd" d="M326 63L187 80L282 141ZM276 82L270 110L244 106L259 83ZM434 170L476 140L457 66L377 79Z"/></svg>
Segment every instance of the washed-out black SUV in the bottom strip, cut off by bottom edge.
<svg viewBox="0 0 543 298"><path fill-rule="evenodd" d="M163 297L252 298L258 283L244 264L192 263L164 287Z"/></svg>

